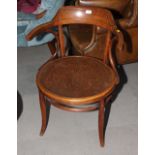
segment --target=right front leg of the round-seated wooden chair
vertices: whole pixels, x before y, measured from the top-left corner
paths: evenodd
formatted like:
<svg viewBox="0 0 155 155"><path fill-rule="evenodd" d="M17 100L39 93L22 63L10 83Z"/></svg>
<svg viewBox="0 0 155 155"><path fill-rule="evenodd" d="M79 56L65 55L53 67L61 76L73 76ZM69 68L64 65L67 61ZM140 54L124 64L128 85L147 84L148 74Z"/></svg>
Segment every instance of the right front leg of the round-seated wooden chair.
<svg viewBox="0 0 155 155"><path fill-rule="evenodd" d="M99 140L100 145L104 146L104 99L100 101L99 113L98 113L98 132L99 132Z"/></svg>

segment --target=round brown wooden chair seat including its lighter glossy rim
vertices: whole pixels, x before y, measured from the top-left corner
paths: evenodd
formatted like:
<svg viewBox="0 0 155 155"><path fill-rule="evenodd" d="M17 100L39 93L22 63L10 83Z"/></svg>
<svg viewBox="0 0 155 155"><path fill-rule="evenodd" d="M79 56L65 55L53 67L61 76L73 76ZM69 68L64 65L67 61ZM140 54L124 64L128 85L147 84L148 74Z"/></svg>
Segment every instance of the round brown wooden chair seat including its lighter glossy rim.
<svg viewBox="0 0 155 155"><path fill-rule="evenodd" d="M102 61L86 56L69 56L44 64L36 83L47 97L69 105L100 100L116 84L113 70Z"/></svg>

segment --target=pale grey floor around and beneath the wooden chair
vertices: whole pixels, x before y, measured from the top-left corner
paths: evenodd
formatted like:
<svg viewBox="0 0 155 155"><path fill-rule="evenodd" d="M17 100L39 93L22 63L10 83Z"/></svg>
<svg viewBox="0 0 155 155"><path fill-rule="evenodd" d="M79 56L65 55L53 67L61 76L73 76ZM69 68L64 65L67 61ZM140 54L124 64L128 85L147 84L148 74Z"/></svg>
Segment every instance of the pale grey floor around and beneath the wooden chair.
<svg viewBox="0 0 155 155"><path fill-rule="evenodd" d="M51 107L45 135L39 136L41 114L35 74L49 56L47 46L18 48L18 92L23 100L18 155L137 155L137 63L124 66L128 82L112 104L105 147L101 148L97 111L73 113Z"/></svg>

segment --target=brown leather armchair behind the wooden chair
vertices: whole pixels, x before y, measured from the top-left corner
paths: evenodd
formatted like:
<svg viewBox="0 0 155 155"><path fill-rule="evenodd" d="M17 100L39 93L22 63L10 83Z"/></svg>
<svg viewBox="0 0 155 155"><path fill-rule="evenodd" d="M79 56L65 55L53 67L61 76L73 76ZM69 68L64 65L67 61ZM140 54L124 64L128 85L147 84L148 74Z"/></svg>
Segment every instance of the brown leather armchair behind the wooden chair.
<svg viewBox="0 0 155 155"><path fill-rule="evenodd" d="M123 32L124 50L115 47L115 56L119 64L136 62L138 60L138 1L137 0L77 0L76 5L108 8ZM88 25L70 26L69 32L74 53L87 53L89 56L102 58L104 39L99 28ZM84 49L85 51L82 51Z"/></svg>

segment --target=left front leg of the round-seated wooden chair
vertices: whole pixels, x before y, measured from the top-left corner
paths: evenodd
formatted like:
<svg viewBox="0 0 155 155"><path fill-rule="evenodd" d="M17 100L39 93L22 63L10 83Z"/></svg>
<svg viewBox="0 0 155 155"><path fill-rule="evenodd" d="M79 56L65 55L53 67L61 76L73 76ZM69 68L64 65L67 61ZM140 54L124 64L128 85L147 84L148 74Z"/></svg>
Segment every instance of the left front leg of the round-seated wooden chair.
<svg viewBox="0 0 155 155"><path fill-rule="evenodd" d="M46 130L46 122L47 122L47 112L46 112L46 100L45 96L42 94L41 91L39 91L39 101L40 101L40 109L41 109L41 115L42 115L42 126L40 130L40 136L43 136L45 130Z"/></svg>

